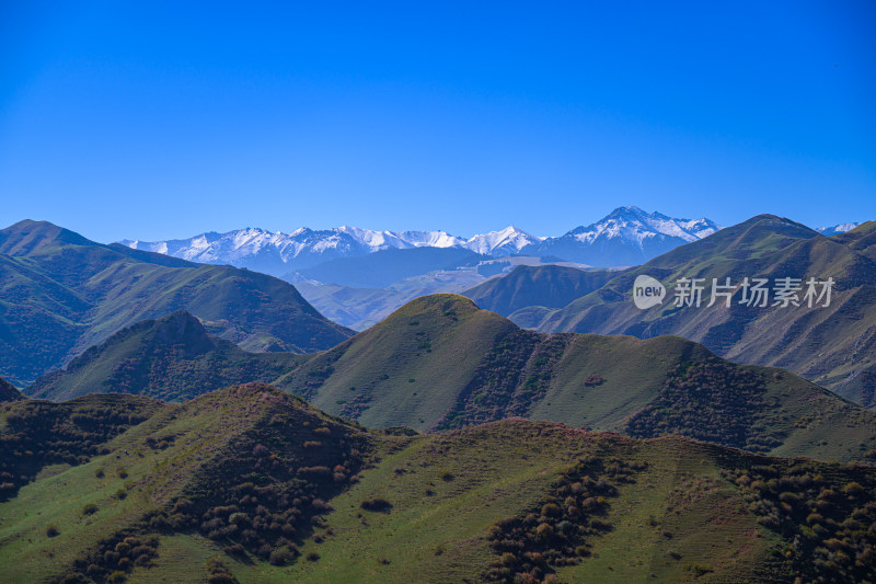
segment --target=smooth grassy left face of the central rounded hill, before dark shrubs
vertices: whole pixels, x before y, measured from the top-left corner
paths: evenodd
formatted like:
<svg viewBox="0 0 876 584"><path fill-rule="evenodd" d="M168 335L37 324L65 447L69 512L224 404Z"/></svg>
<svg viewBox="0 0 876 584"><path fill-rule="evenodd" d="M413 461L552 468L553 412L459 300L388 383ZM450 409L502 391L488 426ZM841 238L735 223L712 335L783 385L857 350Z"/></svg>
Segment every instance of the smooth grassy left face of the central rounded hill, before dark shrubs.
<svg viewBox="0 0 876 584"><path fill-rule="evenodd" d="M278 383L343 415L354 413L359 400L367 408L357 419L368 426L433 427L452 408L495 339L512 329L468 299L433 295L408 302ZM327 380L311 391L327 367Z"/></svg>

